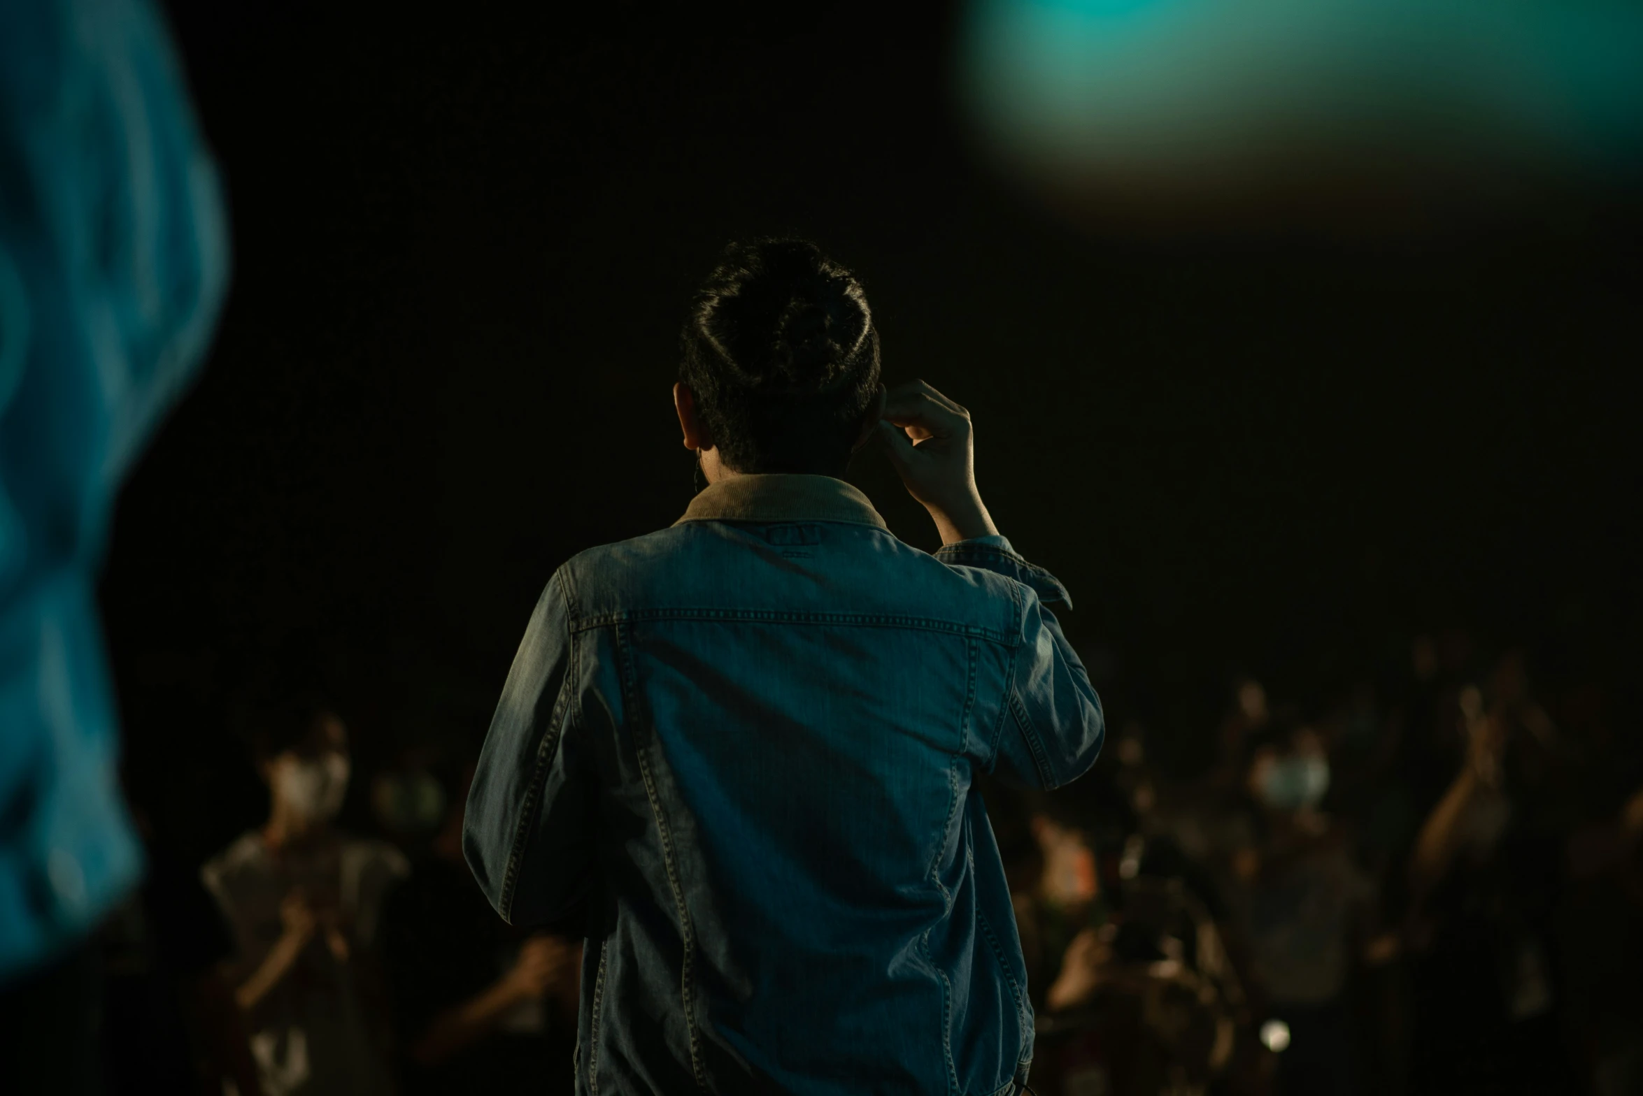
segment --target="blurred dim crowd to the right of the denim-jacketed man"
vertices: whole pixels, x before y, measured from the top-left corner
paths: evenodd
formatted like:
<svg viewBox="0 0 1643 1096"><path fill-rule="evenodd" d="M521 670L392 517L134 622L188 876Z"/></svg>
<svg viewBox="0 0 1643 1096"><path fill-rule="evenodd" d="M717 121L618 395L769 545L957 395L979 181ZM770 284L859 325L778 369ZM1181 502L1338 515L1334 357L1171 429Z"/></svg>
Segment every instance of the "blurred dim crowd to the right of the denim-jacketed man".
<svg viewBox="0 0 1643 1096"><path fill-rule="evenodd" d="M1452 632L1314 707L1229 694L1208 771L1129 725L989 799L1038 1091L1643 1091L1643 758L1599 687Z"/></svg>

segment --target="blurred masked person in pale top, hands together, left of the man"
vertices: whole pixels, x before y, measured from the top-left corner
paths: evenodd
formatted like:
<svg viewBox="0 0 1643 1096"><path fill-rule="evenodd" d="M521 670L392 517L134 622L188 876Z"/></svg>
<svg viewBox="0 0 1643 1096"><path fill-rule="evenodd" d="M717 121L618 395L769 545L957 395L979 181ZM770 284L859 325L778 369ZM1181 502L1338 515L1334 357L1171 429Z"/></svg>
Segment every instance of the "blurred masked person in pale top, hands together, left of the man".
<svg viewBox="0 0 1643 1096"><path fill-rule="evenodd" d="M268 1096L391 1091L375 963L393 845L332 825L348 789L348 733L327 706L283 706L253 733L268 822L200 871L235 938L227 966Z"/></svg>

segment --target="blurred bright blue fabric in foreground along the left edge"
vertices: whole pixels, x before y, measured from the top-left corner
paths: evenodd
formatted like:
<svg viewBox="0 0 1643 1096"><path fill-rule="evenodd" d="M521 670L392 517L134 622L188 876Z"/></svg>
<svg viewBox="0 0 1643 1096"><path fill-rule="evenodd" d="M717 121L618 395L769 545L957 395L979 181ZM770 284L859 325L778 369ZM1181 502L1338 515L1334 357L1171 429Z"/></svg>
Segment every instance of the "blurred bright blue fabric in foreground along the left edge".
<svg viewBox="0 0 1643 1096"><path fill-rule="evenodd" d="M141 873L95 571L227 282L217 176L138 0L0 0L0 981Z"/></svg>

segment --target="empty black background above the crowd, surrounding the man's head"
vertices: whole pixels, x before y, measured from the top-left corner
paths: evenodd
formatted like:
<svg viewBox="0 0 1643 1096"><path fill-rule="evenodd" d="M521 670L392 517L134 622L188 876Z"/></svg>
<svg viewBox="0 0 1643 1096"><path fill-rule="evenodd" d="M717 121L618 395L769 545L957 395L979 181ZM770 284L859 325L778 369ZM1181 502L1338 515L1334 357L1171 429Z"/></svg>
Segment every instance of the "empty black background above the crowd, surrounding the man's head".
<svg viewBox="0 0 1643 1096"><path fill-rule="evenodd" d="M1231 674L1306 702L1420 630L1630 681L1635 203L1075 230L971 139L953 5L169 7L235 277L104 601L133 781L199 852L263 809L230 732L269 683L338 697L366 768L476 742L554 568L683 510L679 322L744 233L856 267L887 381L973 409L1111 720L1181 765ZM935 546L881 458L853 477Z"/></svg>

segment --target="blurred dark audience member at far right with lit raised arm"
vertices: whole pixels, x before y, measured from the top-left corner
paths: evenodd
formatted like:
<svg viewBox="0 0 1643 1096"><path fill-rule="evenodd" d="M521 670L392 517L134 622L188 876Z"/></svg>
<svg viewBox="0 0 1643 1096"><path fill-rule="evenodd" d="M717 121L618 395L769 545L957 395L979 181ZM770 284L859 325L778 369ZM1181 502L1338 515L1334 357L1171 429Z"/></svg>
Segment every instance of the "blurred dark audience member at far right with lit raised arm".
<svg viewBox="0 0 1643 1096"><path fill-rule="evenodd" d="M1521 651L1487 692L1464 687L1466 760L1410 853L1416 1093L1577 1091L1564 1045L1551 916L1572 801L1562 735Z"/></svg>

